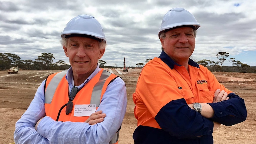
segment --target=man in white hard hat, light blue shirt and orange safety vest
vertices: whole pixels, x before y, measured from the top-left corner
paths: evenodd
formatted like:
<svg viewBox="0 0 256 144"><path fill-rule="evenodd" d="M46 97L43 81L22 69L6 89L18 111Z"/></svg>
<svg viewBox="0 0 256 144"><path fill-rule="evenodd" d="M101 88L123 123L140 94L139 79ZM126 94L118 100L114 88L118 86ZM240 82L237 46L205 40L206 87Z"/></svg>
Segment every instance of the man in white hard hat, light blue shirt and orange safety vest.
<svg viewBox="0 0 256 144"><path fill-rule="evenodd" d="M16 123L19 143L113 144L127 106L124 81L99 68L106 47L101 24L78 15L61 33L71 67L49 75Z"/></svg>

